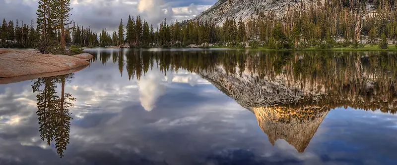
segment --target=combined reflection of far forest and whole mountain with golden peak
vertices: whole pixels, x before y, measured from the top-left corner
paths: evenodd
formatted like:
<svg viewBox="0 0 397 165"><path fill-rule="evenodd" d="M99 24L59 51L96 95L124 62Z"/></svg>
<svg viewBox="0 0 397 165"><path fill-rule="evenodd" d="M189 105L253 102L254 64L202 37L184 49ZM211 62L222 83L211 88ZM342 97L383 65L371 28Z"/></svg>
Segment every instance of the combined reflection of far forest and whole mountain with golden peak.
<svg viewBox="0 0 397 165"><path fill-rule="evenodd" d="M331 109L397 112L397 57L391 52L121 49L96 56L92 60L103 65L113 59L130 80L153 67L164 75L197 73L253 112L271 144L284 139L298 152Z"/></svg>

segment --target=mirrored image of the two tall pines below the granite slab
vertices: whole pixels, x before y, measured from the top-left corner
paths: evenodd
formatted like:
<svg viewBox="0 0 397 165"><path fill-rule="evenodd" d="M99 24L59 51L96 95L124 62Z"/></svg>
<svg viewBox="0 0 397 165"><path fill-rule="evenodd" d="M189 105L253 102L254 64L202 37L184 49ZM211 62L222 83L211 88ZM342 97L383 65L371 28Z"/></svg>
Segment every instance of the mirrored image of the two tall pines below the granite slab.
<svg viewBox="0 0 397 165"><path fill-rule="evenodd" d="M73 106L75 98L70 93L65 93L65 83L70 82L72 78L73 74L39 78L32 84L33 92L38 92L36 114L39 118L40 137L48 145L55 141L55 148L60 157L64 156L66 145L69 144L72 120L69 108ZM56 91L59 83L61 96L58 96Z"/></svg>

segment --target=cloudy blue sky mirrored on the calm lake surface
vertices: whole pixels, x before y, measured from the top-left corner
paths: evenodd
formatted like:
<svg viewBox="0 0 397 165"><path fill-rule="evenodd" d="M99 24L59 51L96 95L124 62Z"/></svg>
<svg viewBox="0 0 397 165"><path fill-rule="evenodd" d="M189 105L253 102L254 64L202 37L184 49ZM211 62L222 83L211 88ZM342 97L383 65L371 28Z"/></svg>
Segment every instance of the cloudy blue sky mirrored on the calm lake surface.
<svg viewBox="0 0 397 165"><path fill-rule="evenodd" d="M332 107L304 152L299 152L285 139L272 144L256 113L203 79L203 72L170 69L165 74L156 65L161 61L154 61L139 79L136 73L129 78L129 51L88 51L95 55L92 64L74 73L65 85L65 92L76 101L70 108L73 120L63 158L55 144L40 139L34 81L0 85L0 165L397 162L397 116L391 113ZM211 56L222 50L197 51Z"/></svg>

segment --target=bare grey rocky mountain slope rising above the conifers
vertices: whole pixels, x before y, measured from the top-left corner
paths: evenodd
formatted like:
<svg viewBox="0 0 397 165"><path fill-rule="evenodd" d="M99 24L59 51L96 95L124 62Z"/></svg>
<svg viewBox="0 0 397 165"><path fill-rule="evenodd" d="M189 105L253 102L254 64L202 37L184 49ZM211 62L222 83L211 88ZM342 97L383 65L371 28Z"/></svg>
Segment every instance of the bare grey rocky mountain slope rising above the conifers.
<svg viewBox="0 0 397 165"><path fill-rule="evenodd" d="M258 15L267 15L270 11L274 12L276 16L280 16L288 9L305 9L310 4L316 7L324 4L324 0L218 0L194 20L212 19L217 25L222 25L226 18L238 21L241 17L246 22L251 16L257 18ZM367 3L367 8L373 9L372 3Z"/></svg>

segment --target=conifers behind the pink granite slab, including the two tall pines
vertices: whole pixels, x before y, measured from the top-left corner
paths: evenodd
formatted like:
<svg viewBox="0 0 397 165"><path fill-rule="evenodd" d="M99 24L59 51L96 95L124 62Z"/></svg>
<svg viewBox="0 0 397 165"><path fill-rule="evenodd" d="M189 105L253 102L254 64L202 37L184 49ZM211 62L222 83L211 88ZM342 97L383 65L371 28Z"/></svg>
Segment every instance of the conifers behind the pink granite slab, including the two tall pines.
<svg viewBox="0 0 397 165"><path fill-rule="evenodd" d="M3 19L0 29L0 47L31 47L42 53L72 54L72 45L99 46L98 36L90 27L70 27L70 0L39 0L36 27L14 26L13 20ZM67 48L69 47L69 48ZM79 49L80 50L80 49ZM81 51L81 50L80 50Z"/></svg>

